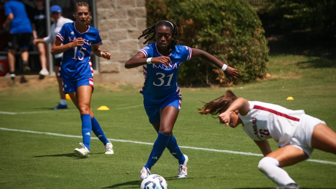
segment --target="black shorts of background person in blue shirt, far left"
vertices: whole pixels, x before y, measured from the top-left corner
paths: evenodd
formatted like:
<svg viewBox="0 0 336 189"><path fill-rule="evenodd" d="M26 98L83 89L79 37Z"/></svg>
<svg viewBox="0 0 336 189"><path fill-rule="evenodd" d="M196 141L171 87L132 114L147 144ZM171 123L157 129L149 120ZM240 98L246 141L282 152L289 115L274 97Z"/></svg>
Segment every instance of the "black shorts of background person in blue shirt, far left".
<svg viewBox="0 0 336 189"><path fill-rule="evenodd" d="M8 35L8 48L17 50L29 49L29 44L32 40L31 33L18 33L18 34L9 34Z"/></svg>

